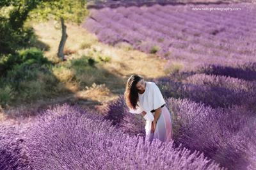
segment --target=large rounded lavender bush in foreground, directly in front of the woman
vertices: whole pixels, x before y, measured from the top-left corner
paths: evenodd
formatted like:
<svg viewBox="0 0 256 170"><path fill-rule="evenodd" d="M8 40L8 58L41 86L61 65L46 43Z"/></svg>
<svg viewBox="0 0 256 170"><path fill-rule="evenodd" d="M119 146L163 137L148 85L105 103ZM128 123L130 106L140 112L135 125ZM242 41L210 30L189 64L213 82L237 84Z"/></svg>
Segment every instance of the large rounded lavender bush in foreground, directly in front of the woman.
<svg viewBox="0 0 256 170"><path fill-rule="evenodd" d="M27 143L33 169L221 169L198 151L143 141L80 111L58 106L35 123Z"/></svg>

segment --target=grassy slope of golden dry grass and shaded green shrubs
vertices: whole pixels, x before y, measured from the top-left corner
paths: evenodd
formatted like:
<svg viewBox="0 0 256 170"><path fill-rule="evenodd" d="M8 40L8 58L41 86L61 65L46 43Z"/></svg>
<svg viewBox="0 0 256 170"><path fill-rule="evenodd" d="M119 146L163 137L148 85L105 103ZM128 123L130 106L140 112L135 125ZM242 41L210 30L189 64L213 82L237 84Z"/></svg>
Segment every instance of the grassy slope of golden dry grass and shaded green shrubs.
<svg viewBox="0 0 256 170"><path fill-rule="evenodd" d="M95 35L74 24L67 24L67 61L60 61L56 53L61 30L54 21L31 25L38 39L31 43L42 49L53 65L47 68L48 73L37 72L33 80L22 81L26 91L12 95L2 115L20 109L36 112L47 105L63 102L94 109L123 94L125 82L132 73L139 73L145 79L166 74L165 59L134 50L125 43L115 47L100 43Z"/></svg>

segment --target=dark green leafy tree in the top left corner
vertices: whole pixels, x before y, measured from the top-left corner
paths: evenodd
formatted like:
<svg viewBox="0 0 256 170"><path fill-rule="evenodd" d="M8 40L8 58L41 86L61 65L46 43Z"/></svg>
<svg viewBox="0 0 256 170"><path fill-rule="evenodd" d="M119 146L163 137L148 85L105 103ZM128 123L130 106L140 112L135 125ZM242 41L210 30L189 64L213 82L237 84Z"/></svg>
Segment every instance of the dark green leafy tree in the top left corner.
<svg viewBox="0 0 256 170"><path fill-rule="evenodd" d="M0 1L0 53L10 54L26 45L33 34L24 28L29 13L47 0L1 0Z"/></svg>

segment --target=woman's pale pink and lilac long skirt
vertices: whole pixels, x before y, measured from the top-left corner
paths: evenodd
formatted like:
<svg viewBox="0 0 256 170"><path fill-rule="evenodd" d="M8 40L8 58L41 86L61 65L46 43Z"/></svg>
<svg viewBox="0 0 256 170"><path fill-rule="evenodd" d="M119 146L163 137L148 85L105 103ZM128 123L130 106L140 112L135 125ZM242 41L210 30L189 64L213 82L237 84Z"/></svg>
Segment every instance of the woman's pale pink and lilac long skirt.
<svg viewBox="0 0 256 170"><path fill-rule="evenodd" d="M155 115L155 112L152 112L153 116ZM168 111L168 108L164 105L164 107L161 108L160 116L156 123L156 129L155 132L146 133L145 140L152 141L153 139L159 139L162 142L170 142L172 139L172 116L170 112Z"/></svg>

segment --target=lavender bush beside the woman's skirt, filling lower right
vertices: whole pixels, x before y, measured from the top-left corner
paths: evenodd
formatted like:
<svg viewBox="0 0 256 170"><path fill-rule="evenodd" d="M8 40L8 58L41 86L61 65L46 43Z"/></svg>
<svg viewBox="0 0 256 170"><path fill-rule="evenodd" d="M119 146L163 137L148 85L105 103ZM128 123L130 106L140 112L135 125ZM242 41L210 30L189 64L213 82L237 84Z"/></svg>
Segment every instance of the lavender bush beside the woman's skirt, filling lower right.
<svg viewBox="0 0 256 170"><path fill-rule="evenodd" d="M255 151L250 151L256 146L255 112L238 106L212 109L188 99L170 98L168 105L173 114L175 143L203 151L228 169L255 166Z"/></svg>

